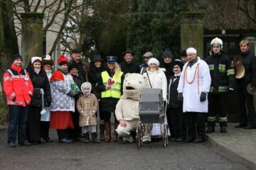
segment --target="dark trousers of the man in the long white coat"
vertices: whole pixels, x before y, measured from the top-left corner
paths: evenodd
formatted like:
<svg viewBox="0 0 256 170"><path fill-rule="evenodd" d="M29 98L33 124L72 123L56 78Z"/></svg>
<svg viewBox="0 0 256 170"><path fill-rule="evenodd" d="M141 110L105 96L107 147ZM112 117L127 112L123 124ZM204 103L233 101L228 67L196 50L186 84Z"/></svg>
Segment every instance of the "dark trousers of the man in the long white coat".
<svg viewBox="0 0 256 170"><path fill-rule="evenodd" d="M186 123L188 127L187 138L202 137L206 136L206 123L205 123L206 113L200 112L186 112Z"/></svg>

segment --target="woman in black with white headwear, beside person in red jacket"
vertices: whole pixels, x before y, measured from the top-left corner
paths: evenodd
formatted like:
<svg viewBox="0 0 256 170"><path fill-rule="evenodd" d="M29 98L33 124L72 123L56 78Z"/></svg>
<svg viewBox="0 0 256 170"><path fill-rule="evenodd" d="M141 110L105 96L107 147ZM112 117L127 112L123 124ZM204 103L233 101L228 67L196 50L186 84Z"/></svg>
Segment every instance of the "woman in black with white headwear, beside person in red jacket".
<svg viewBox="0 0 256 170"><path fill-rule="evenodd" d="M41 114L45 114L44 106L51 102L50 84L46 71L43 69L42 58L32 57L28 67L29 76L34 87L31 106L28 110L28 142L39 144L41 142Z"/></svg>

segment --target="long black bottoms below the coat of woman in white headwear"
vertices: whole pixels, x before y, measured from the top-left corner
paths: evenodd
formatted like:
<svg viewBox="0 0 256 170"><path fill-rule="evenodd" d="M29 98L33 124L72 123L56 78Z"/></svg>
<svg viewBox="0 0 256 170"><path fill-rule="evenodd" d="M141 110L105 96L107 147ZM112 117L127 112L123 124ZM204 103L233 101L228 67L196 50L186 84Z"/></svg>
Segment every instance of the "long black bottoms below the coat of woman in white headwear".
<svg viewBox="0 0 256 170"><path fill-rule="evenodd" d="M28 107L27 135L29 142L41 142L41 107Z"/></svg>

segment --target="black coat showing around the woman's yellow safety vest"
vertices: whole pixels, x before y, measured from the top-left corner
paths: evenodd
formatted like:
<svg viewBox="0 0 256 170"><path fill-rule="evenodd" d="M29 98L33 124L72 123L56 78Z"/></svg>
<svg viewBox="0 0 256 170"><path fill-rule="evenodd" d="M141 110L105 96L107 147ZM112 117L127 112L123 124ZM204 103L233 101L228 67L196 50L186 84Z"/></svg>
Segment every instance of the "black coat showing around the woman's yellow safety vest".
<svg viewBox="0 0 256 170"><path fill-rule="evenodd" d="M106 69L107 73L110 75L110 77L114 76L114 72L110 72L110 69ZM122 94L122 86L124 82L124 74L122 74L121 77L121 94ZM99 89L100 91L105 91L105 86L103 85L102 77L100 77L99 80ZM115 111L115 107L117 105L117 102L119 101L119 98L101 98L100 99L100 111L112 113Z"/></svg>

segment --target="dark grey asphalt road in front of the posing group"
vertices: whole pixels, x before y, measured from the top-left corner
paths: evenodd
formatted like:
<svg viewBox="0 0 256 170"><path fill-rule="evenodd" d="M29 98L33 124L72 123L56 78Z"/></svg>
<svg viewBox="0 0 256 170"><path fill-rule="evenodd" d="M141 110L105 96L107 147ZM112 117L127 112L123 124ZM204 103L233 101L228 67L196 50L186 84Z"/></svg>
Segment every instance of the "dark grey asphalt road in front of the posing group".
<svg viewBox="0 0 256 170"><path fill-rule="evenodd" d="M55 131L51 131L57 141ZM9 148L0 131L0 169L232 169L244 166L215 153L207 144L171 142L163 148L152 142L137 149L135 143L59 144L58 142Z"/></svg>

